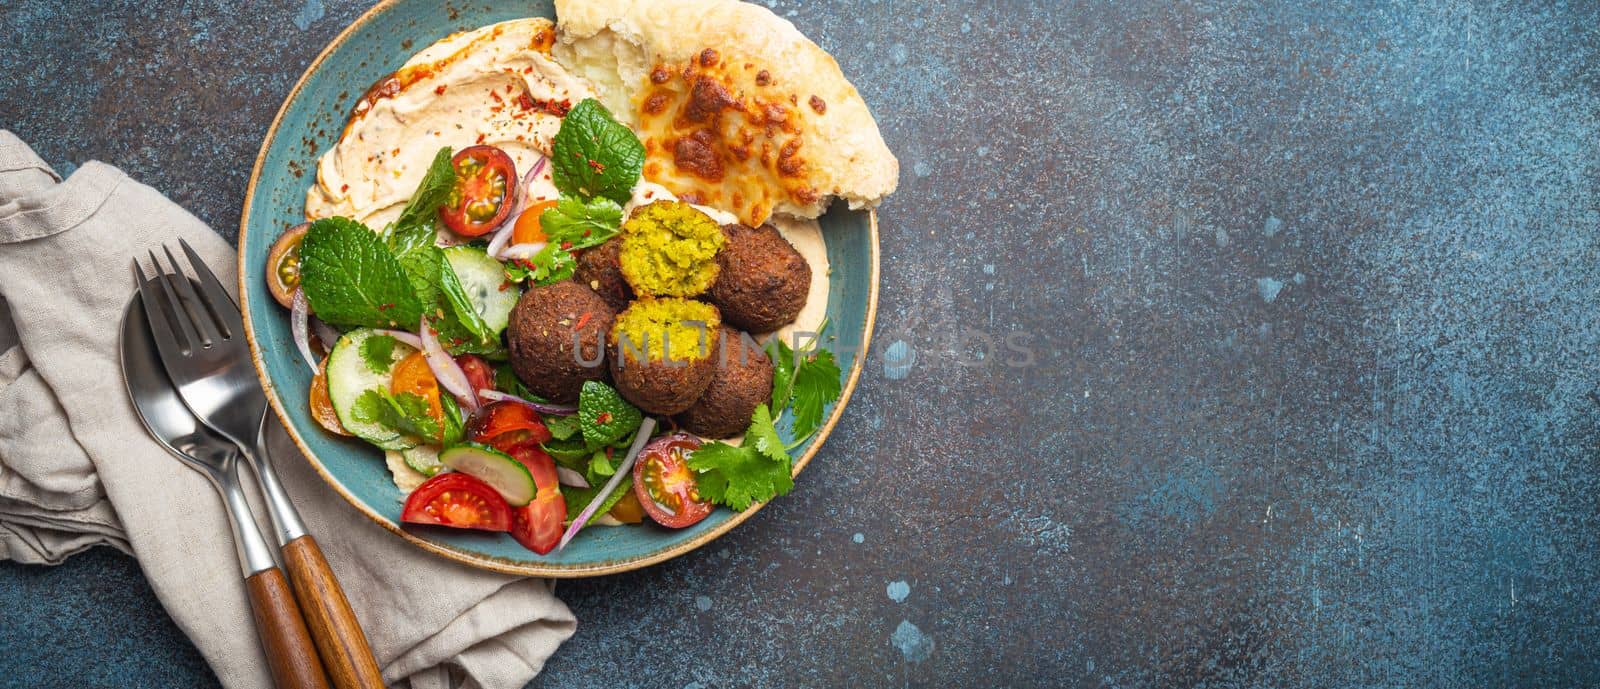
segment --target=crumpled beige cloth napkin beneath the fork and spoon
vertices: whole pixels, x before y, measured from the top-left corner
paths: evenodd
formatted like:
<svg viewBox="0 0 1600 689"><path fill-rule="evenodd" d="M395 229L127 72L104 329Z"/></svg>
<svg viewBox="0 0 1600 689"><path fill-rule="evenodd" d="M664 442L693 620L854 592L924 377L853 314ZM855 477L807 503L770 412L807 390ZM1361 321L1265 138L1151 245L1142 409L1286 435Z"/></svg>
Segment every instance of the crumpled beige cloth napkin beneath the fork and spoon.
<svg viewBox="0 0 1600 689"><path fill-rule="evenodd" d="M130 261L179 237L234 283L229 245L162 193L94 161L61 181L0 129L0 299L14 321L0 318L14 328L0 345L19 342L0 353L0 558L133 553L222 684L267 687L222 505L144 433L117 363ZM550 582L424 553L323 484L282 428L272 443L389 683L520 687L571 636Z"/></svg>

